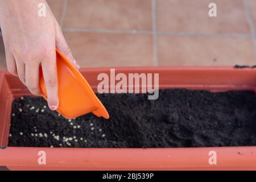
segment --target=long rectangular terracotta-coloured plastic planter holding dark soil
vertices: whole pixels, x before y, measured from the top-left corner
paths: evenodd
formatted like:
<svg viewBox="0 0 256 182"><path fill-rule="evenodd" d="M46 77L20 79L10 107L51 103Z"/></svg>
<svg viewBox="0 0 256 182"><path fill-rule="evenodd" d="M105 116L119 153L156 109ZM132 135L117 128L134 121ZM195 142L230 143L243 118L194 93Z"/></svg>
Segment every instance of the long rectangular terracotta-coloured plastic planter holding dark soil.
<svg viewBox="0 0 256 182"><path fill-rule="evenodd" d="M231 67L116 68L116 73L159 73L159 88L256 91L256 69ZM99 73L110 69L82 69L94 91ZM0 73L0 146L8 145L11 104L28 95L18 78ZM111 117L111 116L110 116ZM255 121L256 122L256 121ZM256 131L255 131L256 132ZM5 148L5 147L2 147ZM46 152L46 165L38 164L38 152ZM213 152L211 152L213 151ZM209 164L212 154L217 164ZM37 148L0 149L0 166L9 169L256 169L256 146L204 148Z"/></svg>

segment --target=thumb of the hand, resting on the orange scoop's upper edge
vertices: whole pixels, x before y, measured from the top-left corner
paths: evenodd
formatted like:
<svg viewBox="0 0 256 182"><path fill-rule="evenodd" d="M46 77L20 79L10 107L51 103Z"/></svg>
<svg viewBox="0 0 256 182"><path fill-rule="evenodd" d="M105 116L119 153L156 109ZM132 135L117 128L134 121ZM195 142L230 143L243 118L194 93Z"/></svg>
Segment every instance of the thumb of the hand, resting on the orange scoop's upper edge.
<svg viewBox="0 0 256 182"><path fill-rule="evenodd" d="M63 36L63 33L60 31L58 34L59 35L56 36L56 47L60 50L61 53L63 53L68 58L69 61L71 61L73 65L75 65L77 69L80 69L80 65L76 62L75 58L73 57L71 49L68 47L68 44Z"/></svg>

